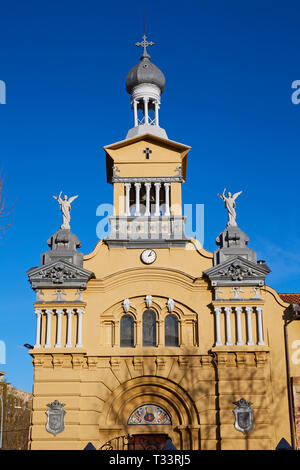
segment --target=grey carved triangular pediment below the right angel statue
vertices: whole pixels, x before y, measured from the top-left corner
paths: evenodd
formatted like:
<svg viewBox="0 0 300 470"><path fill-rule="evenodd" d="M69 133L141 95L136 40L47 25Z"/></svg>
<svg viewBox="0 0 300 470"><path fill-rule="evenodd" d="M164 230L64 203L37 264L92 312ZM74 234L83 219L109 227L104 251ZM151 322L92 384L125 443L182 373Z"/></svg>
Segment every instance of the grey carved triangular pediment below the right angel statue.
<svg viewBox="0 0 300 470"><path fill-rule="evenodd" d="M265 264L253 263L235 256L203 272L213 286L264 285L271 270Z"/></svg>

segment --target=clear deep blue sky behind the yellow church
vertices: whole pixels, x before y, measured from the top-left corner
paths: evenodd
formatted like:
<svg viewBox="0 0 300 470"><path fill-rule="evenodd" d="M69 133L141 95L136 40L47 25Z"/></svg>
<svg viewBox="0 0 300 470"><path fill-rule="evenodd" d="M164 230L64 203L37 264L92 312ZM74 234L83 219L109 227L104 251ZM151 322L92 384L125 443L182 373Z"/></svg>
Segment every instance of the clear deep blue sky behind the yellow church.
<svg viewBox="0 0 300 470"><path fill-rule="evenodd" d="M298 3L298 4L297 4ZM166 76L160 123L192 147L183 202L205 205L204 247L213 251L227 217L217 193L243 190L238 223L272 269L268 284L300 292L300 4L296 1L94 0L2 2L0 168L11 228L0 241L0 369L32 391L37 266L61 223L62 189L79 194L72 230L84 253L97 243L96 208L112 202L103 146L132 127L125 77L143 34Z"/></svg>

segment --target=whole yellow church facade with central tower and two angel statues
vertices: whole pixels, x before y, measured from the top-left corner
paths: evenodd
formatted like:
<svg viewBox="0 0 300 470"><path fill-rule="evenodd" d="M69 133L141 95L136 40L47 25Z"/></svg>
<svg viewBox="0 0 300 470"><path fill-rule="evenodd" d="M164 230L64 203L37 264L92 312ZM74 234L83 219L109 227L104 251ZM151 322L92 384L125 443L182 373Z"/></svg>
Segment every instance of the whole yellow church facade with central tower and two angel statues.
<svg viewBox="0 0 300 470"><path fill-rule="evenodd" d="M238 227L239 193L214 253L184 231L188 145L159 125L165 78L143 37L126 79L134 125L104 148L110 235L83 255L74 198L40 266L30 449L297 448L297 302ZM298 340L299 338L299 340ZM298 379L297 379L298 378Z"/></svg>

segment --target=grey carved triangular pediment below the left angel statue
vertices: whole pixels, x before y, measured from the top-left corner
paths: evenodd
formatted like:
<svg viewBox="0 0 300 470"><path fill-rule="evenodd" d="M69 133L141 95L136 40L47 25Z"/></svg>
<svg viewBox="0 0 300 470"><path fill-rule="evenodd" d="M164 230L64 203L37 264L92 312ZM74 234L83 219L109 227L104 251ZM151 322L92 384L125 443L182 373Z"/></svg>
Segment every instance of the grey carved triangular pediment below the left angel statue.
<svg viewBox="0 0 300 470"><path fill-rule="evenodd" d="M85 288L86 283L95 278L93 272L80 268L65 260L31 268L27 271L33 289L57 286Z"/></svg>

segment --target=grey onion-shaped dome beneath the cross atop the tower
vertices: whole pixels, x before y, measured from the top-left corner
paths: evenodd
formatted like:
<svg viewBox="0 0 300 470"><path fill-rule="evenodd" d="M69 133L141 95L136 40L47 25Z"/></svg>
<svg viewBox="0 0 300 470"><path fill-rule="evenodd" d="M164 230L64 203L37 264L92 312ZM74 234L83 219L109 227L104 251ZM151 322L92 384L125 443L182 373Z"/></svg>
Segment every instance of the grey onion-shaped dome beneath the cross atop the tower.
<svg viewBox="0 0 300 470"><path fill-rule="evenodd" d="M142 83L152 83L163 93L165 88L165 76L162 71L151 61L148 54L143 54L141 61L129 70L126 77L126 90L131 94L133 88Z"/></svg>

